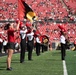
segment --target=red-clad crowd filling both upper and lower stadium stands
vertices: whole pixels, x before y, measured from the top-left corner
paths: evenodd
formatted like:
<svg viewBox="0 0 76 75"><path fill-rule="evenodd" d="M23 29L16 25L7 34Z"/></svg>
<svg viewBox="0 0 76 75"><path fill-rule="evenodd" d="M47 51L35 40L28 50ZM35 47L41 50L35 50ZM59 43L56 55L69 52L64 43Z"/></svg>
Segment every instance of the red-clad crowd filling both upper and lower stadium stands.
<svg viewBox="0 0 76 75"><path fill-rule="evenodd" d="M46 2L47 1L47 2ZM64 0L67 6L76 13L76 2ZM45 19L67 19L69 16L67 9L63 6L60 0L25 0L25 2L33 9L38 16L38 20L43 20L39 23L38 29L41 34L49 36L51 41L59 41L59 28L57 23L44 22ZM75 16L71 16L76 21ZM16 20L18 18L18 0L0 0L0 20ZM0 38L7 39L4 26L6 23L0 23ZM61 24L63 25L63 24ZM76 24L66 23L67 33L71 42L76 38ZM16 42L20 42L18 32L16 34Z"/></svg>

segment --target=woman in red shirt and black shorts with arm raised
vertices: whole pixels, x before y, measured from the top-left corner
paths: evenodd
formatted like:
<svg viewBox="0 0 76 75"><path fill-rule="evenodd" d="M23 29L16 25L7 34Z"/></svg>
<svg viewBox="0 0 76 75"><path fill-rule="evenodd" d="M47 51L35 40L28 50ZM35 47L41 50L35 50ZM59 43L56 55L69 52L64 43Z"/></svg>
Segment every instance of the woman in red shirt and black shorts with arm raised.
<svg viewBox="0 0 76 75"><path fill-rule="evenodd" d="M11 68L11 60L12 60L12 55L15 49L15 39L14 39L14 32L16 30L18 30L19 28L19 24L16 26L16 28L14 28L14 24L7 24L4 29L7 30L7 36L8 36L8 43L7 43L7 52L8 52L8 56L7 56L7 69L6 70L12 70Z"/></svg>

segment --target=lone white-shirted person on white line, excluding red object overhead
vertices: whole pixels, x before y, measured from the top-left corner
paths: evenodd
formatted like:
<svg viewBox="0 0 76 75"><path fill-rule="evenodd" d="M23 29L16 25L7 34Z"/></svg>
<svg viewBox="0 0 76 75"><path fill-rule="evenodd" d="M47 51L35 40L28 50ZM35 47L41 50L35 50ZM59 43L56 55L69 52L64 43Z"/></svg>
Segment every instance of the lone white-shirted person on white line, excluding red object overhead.
<svg viewBox="0 0 76 75"><path fill-rule="evenodd" d="M65 32L61 31L61 36L60 36L60 43L61 43L61 59L65 60L65 55L66 55L66 38L65 38Z"/></svg>

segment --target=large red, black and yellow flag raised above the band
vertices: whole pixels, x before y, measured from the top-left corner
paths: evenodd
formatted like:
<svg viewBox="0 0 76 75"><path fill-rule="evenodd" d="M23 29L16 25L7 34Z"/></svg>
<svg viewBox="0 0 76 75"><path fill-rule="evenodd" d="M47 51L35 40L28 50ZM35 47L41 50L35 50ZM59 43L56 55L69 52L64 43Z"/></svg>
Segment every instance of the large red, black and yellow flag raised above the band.
<svg viewBox="0 0 76 75"><path fill-rule="evenodd" d="M36 17L32 8L24 0L18 0L18 18L32 21Z"/></svg>

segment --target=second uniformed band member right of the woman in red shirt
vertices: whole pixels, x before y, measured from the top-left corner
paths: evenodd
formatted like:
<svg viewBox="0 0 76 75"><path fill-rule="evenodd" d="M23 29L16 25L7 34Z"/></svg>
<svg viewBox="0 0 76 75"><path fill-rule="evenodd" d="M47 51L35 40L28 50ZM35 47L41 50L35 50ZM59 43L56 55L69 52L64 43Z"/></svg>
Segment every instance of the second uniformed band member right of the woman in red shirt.
<svg viewBox="0 0 76 75"><path fill-rule="evenodd" d="M32 60L33 47L34 47L34 32L31 28L28 28L28 32L27 32L28 60Z"/></svg>

